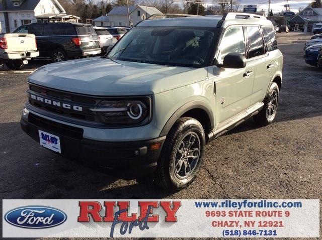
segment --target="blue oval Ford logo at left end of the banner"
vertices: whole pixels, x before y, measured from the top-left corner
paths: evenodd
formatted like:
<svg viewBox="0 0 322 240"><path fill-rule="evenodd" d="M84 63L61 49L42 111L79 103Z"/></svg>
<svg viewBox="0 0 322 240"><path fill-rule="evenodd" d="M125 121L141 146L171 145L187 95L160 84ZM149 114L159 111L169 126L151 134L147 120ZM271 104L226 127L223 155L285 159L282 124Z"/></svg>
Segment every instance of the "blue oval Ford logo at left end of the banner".
<svg viewBox="0 0 322 240"><path fill-rule="evenodd" d="M25 206L10 210L5 219L8 223L25 228L47 228L57 226L67 215L56 208L47 206Z"/></svg>

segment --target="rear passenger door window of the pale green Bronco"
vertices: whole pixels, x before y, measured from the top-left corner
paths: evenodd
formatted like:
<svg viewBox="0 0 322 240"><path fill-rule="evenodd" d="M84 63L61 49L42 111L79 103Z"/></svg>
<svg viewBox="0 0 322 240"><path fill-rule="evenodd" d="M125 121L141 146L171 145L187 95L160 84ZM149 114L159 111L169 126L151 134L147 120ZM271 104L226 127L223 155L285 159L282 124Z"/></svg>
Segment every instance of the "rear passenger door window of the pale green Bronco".
<svg viewBox="0 0 322 240"><path fill-rule="evenodd" d="M264 40L259 27L247 26L245 33L247 37L246 57L253 58L265 54Z"/></svg>

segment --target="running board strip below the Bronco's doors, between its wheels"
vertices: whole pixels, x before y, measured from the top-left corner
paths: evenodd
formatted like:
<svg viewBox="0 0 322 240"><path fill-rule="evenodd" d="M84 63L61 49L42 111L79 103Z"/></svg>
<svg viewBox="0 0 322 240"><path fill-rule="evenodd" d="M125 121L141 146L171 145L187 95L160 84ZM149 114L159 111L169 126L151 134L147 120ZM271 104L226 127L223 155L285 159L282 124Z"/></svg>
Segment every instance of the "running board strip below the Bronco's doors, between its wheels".
<svg viewBox="0 0 322 240"><path fill-rule="evenodd" d="M214 130L208 135L208 142L227 133L229 130L243 123L248 118L254 116L263 108L263 106L264 102L258 102L237 115L227 119L225 122L218 124L218 126L215 127Z"/></svg>

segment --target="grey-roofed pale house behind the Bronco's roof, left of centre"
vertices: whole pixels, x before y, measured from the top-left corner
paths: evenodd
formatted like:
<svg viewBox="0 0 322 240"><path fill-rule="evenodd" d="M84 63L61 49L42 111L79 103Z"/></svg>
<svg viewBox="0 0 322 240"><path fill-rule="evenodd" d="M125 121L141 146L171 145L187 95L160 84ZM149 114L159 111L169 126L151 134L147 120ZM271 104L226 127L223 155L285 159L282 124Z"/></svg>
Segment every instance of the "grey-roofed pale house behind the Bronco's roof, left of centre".
<svg viewBox="0 0 322 240"><path fill-rule="evenodd" d="M130 25L150 17L153 14L162 14L159 10L146 6L129 6ZM93 20L95 26L129 26L129 18L126 6L114 7L107 16L102 16Z"/></svg>

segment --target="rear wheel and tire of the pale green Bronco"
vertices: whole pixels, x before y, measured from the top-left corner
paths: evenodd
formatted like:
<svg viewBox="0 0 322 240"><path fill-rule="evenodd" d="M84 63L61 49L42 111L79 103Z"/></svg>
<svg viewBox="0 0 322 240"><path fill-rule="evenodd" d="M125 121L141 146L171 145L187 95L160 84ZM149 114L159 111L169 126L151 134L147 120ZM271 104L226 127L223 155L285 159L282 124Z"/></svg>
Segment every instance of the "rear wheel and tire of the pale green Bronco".
<svg viewBox="0 0 322 240"><path fill-rule="evenodd" d="M276 96L276 100L274 100L274 95ZM264 100L262 110L254 116L257 125L266 126L274 121L277 114L279 96L278 85L276 82L272 82Z"/></svg>

